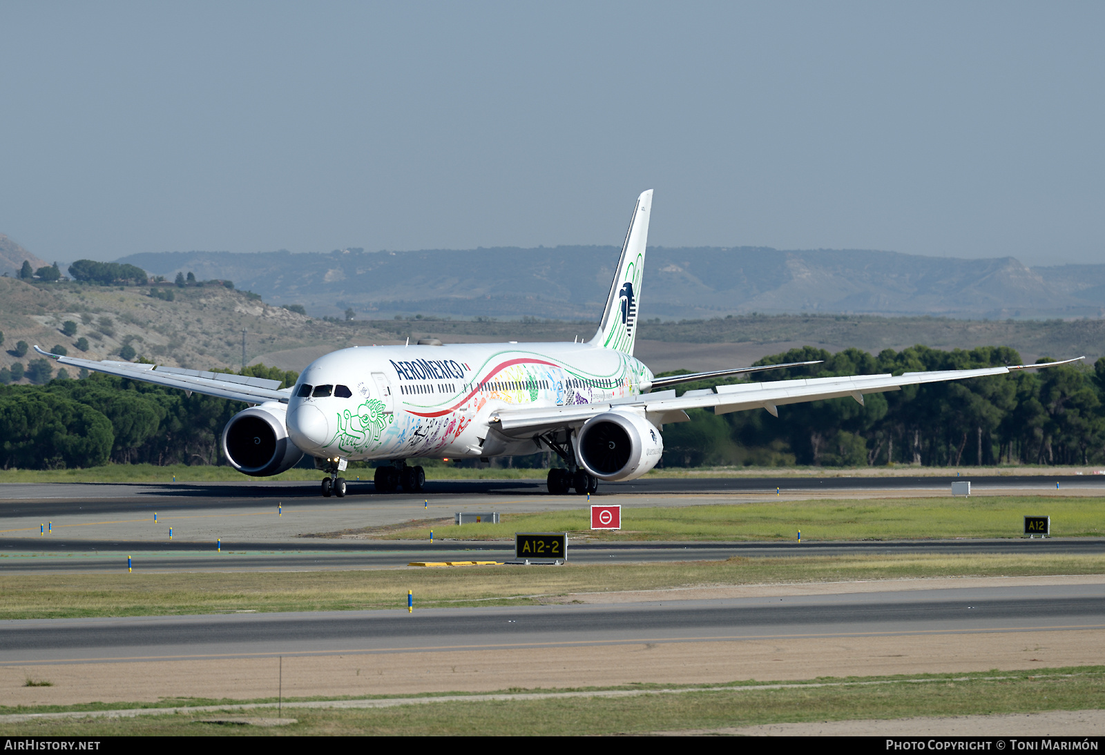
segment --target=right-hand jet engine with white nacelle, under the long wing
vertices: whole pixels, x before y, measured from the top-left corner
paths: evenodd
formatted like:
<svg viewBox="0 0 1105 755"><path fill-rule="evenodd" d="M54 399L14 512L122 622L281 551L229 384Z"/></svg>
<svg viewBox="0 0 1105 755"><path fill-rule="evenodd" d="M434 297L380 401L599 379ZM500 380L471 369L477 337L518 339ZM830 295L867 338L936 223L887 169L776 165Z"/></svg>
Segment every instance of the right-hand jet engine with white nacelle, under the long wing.
<svg viewBox="0 0 1105 755"><path fill-rule="evenodd" d="M600 480L633 480L664 453L660 430L631 412L606 412L587 421L576 437L576 457Z"/></svg>

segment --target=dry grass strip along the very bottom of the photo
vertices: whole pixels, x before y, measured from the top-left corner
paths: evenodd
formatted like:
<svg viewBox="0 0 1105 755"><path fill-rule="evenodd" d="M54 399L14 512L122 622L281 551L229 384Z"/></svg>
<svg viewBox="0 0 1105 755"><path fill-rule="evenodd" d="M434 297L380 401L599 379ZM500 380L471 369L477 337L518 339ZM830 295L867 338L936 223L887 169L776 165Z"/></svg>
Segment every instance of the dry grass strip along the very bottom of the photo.
<svg viewBox="0 0 1105 755"><path fill-rule="evenodd" d="M35 720L0 725L7 736L110 735L579 735L644 734L800 721L846 721L1098 709L1105 668L813 680L786 684L641 694L624 698L465 701L385 709L284 709L298 722L281 727L201 723L211 713L133 719ZM840 683L845 682L845 683ZM524 690L509 690L524 692ZM276 706L251 716L275 717Z"/></svg>

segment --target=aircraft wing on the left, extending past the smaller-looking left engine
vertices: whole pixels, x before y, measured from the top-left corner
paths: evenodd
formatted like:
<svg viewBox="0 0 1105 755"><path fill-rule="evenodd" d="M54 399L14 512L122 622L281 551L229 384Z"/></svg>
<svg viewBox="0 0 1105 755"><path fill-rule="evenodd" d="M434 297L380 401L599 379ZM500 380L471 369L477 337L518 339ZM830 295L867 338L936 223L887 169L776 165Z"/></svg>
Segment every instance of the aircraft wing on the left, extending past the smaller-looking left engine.
<svg viewBox="0 0 1105 755"><path fill-rule="evenodd" d="M181 391L202 393L207 396L218 396L219 398L231 398L233 401L245 401L251 404L261 404L266 401L278 401L287 403L292 396L292 389L280 390L278 380L265 380L264 378L250 378L248 375L234 375L223 372L206 372L203 370L185 370L183 368L157 366L154 364L136 364L134 362L96 362L91 359L77 359L76 357L62 357L52 354L39 347L34 347L43 357L50 357L60 364L70 364L76 368L85 368L94 372L103 372L118 378L129 378L140 380L145 383L176 387Z"/></svg>

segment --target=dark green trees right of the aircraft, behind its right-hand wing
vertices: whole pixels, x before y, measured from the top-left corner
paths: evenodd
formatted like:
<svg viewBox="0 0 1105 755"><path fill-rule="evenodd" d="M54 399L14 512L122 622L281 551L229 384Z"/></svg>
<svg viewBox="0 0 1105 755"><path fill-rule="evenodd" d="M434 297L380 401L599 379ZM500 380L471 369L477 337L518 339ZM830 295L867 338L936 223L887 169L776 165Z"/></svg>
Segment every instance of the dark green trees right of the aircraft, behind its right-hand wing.
<svg viewBox="0 0 1105 755"><path fill-rule="evenodd" d="M772 370L762 382L796 378L970 370L1020 364L1007 347L939 351L912 347L877 357L848 349L830 354L806 347L756 364L823 360L811 368ZM1054 360L1041 360L1054 361ZM686 390L705 387L688 384ZM693 422L664 428L666 466L771 465L923 466L1105 462L1105 358L1090 366L1059 366L972 378L852 398L779 406L723 416L697 410Z"/></svg>

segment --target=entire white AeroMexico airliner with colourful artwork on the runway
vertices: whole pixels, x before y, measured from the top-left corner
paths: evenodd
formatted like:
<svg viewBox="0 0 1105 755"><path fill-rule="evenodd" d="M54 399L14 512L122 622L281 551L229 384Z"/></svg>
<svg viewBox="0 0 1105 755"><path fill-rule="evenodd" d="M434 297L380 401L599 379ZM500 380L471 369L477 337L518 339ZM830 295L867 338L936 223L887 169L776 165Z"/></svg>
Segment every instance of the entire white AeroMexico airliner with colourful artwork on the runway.
<svg viewBox="0 0 1105 755"><path fill-rule="evenodd" d="M686 410L717 414L851 396L903 385L999 375L1050 364L738 383L688 391L672 386L775 364L655 378L633 358L652 191L636 200L607 307L590 341L470 343L436 341L359 347L312 362L288 389L259 378L180 368L96 362L35 349L63 364L253 404L222 433L235 469L276 475L305 454L327 476L323 496L345 496L340 477L351 460L376 459L377 491L421 490L425 474L407 459L480 458L555 451L566 468L550 469L551 493L593 492L599 480L632 480L656 466L664 425L687 422ZM1081 358L1080 358L1081 359Z"/></svg>

